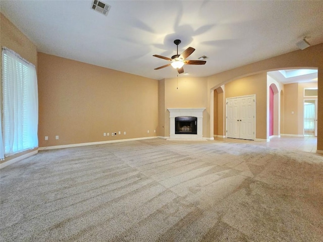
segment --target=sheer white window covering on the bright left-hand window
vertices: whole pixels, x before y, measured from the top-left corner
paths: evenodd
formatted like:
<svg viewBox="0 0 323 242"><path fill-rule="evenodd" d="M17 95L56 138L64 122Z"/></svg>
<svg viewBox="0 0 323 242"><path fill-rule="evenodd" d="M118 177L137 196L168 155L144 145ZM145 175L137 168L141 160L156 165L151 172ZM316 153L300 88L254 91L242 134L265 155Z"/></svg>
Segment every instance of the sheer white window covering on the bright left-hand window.
<svg viewBox="0 0 323 242"><path fill-rule="evenodd" d="M38 147L38 90L35 66L2 50L2 152L0 158Z"/></svg>

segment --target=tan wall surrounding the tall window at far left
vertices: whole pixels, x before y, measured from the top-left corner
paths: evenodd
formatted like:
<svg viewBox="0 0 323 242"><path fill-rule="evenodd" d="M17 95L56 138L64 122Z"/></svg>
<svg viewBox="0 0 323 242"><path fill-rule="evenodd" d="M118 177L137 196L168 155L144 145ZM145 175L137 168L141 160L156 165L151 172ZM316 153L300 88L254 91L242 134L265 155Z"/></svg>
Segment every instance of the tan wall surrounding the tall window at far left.
<svg viewBox="0 0 323 242"><path fill-rule="evenodd" d="M37 69L37 49L34 45L15 25L13 25L3 14L0 14L0 45L14 50L26 61L34 64ZM2 58L0 58L0 67L2 67ZM0 76L2 71L0 68ZM2 102L2 85L0 85L0 100ZM2 103L0 105L2 108ZM0 110L2 112L2 110ZM32 152L29 150L18 155L7 157L5 161ZM4 162L4 161L3 161Z"/></svg>

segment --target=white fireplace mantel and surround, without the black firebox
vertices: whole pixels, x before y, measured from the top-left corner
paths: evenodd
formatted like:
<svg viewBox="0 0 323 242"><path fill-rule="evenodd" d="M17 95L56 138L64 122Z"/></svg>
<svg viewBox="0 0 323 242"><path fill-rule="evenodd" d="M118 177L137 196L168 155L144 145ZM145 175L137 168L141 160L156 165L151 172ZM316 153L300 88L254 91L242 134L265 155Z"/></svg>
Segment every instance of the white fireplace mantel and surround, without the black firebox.
<svg viewBox="0 0 323 242"><path fill-rule="evenodd" d="M203 139L203 111L201 108L167 108L170 111L170 140L204 140ZM197 134L175 134L175 117L197 117Z"/></svg>

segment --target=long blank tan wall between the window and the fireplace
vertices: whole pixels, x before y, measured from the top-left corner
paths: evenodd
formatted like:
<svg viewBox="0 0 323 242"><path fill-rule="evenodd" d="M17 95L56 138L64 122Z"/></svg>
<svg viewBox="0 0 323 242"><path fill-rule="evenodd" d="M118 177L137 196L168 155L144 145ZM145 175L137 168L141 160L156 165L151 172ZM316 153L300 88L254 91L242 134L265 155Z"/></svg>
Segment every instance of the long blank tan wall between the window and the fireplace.
<svg viewBox="0 0 323 242"><path fill-rule="evenodd" d="M157 134L156 80L38 53L38 92L39 147Z"/></svg>

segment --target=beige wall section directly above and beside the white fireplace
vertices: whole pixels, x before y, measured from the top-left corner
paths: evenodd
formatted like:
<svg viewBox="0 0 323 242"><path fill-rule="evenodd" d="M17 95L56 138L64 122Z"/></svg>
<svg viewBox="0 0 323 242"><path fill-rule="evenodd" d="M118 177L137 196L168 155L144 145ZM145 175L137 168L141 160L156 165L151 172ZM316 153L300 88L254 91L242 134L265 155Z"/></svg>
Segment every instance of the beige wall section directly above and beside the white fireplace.
<svg viewBox="0 0 323 242"><path fill-rule="evenodd" d="M207 107L207 81L206 78L171 78L164 80L165 108L159 110L164 115L164 134L161 136L170 136L170 113L167 108L187 108L187 107ZM203 112L203 137L207 135L207 124L209 122L209 114ZM213 136L212 136L213 137Z"/></svg>

